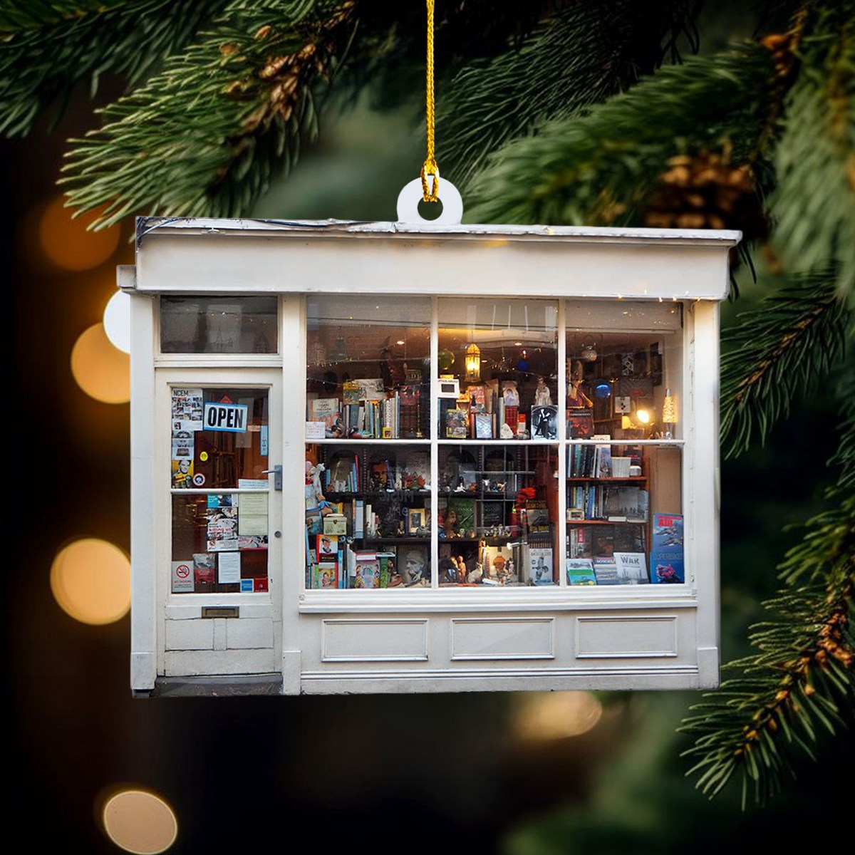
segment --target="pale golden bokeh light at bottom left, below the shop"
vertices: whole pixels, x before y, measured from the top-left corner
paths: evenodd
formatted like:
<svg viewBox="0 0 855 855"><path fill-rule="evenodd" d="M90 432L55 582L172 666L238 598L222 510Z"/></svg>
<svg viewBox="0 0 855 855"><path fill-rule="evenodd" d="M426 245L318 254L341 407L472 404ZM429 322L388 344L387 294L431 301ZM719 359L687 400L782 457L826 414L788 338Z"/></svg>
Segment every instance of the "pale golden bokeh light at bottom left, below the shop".
<svg viewBox="0 0 855 855"><path fill-rule="evenodd" d="M167 802L140 789L122 790L107 799L101 814L110 840L126 852L166 852L178 837L178 820Z"/></svg>

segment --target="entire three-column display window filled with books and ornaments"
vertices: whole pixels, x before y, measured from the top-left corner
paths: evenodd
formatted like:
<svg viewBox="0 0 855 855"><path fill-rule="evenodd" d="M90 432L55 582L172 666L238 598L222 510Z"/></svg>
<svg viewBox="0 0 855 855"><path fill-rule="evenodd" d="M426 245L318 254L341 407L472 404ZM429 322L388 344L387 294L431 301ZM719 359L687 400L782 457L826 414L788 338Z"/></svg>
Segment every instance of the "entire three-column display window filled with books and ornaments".
<svg viewBox="0 0 855 855"><path fill-rule="evenodd" d="M685 581L680 304L337 295L307 327L306 587Z"/></svg>

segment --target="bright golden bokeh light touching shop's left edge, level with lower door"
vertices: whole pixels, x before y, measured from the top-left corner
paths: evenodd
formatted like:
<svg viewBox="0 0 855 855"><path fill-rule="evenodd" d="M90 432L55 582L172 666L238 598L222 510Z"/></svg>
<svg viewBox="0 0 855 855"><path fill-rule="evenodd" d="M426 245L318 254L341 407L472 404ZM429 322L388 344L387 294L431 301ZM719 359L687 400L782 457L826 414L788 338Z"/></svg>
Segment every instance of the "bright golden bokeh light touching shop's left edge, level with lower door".
<svg viewBox="0 0 855 855"><path fill-rule="evenodd" d="M74 620L92 624L118 621L131 607L131 562L107 540L75 540L54 558L50 590Z"/></svg>

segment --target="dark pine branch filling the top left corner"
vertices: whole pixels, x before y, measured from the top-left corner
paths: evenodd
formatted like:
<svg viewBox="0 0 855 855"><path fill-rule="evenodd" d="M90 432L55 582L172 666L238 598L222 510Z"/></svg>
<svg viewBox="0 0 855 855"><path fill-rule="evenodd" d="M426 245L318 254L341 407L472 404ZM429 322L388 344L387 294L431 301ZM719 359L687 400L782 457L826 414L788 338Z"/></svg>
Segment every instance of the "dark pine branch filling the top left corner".
<svg viewBox="0 0 855 855"><path fill-rule="evenodd" d="M85 80L91 96L108 72L133 87L180 51L225 3L126 0L85 4L79 14L58 21L44 15L42 26L0 43L0 134L26 136L52 104L58 120L74 86Z"/></svg>

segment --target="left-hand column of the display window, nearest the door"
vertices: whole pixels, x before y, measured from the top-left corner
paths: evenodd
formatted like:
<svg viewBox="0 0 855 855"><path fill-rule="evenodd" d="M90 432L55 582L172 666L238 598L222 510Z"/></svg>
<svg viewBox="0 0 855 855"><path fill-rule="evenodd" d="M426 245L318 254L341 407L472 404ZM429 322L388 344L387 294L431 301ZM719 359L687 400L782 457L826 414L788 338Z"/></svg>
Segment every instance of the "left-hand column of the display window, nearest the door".
<svg viewBox="0 0 855 855"><path fill-rule="evenodd" d="M429 587L428 298L307 298L306 587Z"/></svg>

